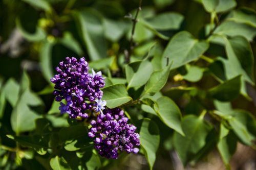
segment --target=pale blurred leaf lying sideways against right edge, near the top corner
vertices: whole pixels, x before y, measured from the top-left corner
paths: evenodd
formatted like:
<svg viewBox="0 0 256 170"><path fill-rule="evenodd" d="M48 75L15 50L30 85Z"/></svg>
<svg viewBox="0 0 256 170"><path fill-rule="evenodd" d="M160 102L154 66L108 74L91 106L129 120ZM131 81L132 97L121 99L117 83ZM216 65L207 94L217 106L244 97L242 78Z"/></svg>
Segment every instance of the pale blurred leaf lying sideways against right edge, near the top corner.
<svg viewBox="0 0 256 170"><path fill-rule="evenodd" d="M256 35L256 28L232 20L226 20L217 27L214 33L230 37L240 35L245 37L248 41L252 41L253 37Z"/></svg>

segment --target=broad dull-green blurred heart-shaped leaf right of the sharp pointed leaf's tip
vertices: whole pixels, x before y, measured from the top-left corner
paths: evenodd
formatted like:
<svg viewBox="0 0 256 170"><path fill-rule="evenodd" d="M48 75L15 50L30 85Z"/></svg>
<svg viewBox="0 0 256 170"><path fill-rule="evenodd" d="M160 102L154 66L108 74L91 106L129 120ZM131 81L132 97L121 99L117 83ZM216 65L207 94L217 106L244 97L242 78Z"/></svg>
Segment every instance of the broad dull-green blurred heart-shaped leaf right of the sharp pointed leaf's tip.
<svg viewBox="0 0 256 170"><path fill-rule="evenodd" d="M183 163L186 165L206 144L206 136L212 127L200 117L187 115L182 120L185 136L174 133L174 147Z"/></svg>

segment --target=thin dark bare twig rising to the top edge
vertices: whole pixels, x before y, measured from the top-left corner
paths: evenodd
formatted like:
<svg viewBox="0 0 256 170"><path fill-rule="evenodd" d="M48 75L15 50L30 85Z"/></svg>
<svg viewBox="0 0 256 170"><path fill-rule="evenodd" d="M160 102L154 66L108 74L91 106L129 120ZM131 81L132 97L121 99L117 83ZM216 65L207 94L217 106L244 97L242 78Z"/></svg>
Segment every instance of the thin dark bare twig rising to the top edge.
<svg viewBox="0 0 256 170"><path fill-rule="evenodd" d="M136 11L135 16L133 18L131 18L133 21L133 28L132 28L132 34L131 34L131 39L130 39L130 49L129 49L129 51L127 51L127 50L124 51L125 63L130 62L131 54L132 54L134 46L135 46L134 33L135 33L136 23L138 21L137 18L138 18L139 12L141 11L141 4L142 4L142 0L140 0L139 7Z"/></svg>

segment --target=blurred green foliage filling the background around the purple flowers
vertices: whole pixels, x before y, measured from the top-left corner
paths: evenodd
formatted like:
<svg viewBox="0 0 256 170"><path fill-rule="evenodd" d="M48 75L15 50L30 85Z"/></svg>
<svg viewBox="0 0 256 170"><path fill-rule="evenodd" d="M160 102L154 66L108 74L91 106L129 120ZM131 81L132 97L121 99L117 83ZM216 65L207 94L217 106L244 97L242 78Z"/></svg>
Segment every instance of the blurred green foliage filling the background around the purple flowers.
<svg viewBox="0 0 256 170"><path fill-rule="evenodd" d="M230 169L238 142L256 148L256 2L138 7L137 0L0 1L1 169L163 169L163 160L175 169L170 153L187 166L216 148ZM139 155L100 157L89 122L60 115L54 68L82 56L106 77L106 106L121 107L137 125ZM127 163L133 157L148 164Z"/></svg>

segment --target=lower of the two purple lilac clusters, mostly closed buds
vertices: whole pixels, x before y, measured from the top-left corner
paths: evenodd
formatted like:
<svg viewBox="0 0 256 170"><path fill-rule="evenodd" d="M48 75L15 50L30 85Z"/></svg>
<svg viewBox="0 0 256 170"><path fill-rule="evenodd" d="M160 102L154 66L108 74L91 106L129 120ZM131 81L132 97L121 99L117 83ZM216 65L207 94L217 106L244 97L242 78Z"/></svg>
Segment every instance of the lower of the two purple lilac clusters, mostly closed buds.
<svg viewBox="0 0 256 170"><path fill-rule="evenodd" d="M128 118L119 108L105 109L97 120L92 120L89 137L94 138L96 150L108 159L117 159L118 151L138 153L140 145L136 127L127 124Z"/></svg>

